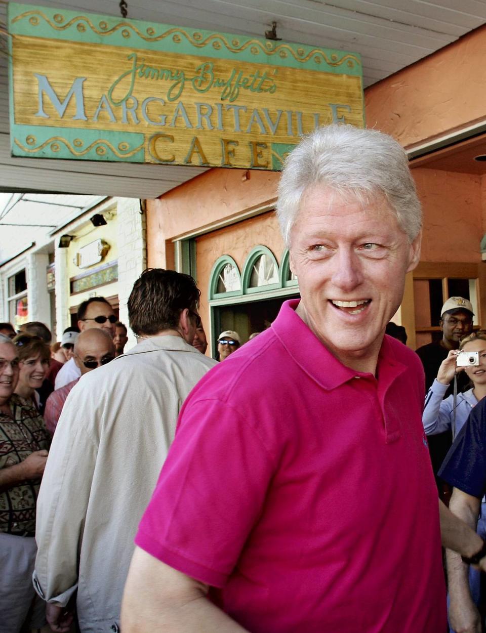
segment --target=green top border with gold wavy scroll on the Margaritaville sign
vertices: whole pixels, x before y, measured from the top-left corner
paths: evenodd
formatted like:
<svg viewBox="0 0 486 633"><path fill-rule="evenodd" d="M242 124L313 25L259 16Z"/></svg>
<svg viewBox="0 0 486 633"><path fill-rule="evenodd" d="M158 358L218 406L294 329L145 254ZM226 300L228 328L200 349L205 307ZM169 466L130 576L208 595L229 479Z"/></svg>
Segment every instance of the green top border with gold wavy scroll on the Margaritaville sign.
<svg viewBox="0 0 486 633"><path fill-rule="evenodd" d="M97 13L9 3L8 28L11 35L108 44L224 60L238 57L238 60L252 64L362 76L361 56L358 53Z"/></svg>

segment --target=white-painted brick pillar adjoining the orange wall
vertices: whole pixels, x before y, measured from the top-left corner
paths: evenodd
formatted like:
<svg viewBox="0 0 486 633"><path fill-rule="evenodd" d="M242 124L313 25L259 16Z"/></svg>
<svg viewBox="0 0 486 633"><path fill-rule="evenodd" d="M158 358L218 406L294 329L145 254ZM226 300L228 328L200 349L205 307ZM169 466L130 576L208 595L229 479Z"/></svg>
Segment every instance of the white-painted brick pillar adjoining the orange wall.
<svg viewBox="0 0 486 633"><path fill-rule="evenodd" d="M129 329L127 301L134 282L147 267L146 216L140 212L138 199L117 199L118 232L118 299L120 301L120 321L128 328L128 342L125 351L136 344Z"/></svg>

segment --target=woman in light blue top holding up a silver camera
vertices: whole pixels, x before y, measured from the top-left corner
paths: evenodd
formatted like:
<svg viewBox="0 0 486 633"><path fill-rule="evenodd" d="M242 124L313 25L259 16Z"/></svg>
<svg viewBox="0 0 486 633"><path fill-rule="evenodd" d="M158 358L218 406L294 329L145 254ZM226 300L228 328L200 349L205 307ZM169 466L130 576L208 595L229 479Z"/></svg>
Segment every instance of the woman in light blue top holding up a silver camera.
<svg viewBox="0 0 486 633"><path fill-rule="evenodd" d="M461 352L478 353L478 365L457 367L456 357ZM471 354L472 356L472 354ZM466 357L466 362L472 360ZM456 403L454 396L444 398L449 383L457 372L466 372L472 383L472 388L464 393L458 393ZM486 330L473 332L459 344L459 349L451 349L447 358L440 364L437 379L425 396L425 410L422 416L426 435L436 435L452 429L452 439L463 428L473 407L486 396ZM486 501L483 498L481 515L476 526L476 532L486 539ZM480 571L474 567L469 569L469 586L471 598L475 605L480 603ZM450 629L452 633L453 630Z"/></svg>

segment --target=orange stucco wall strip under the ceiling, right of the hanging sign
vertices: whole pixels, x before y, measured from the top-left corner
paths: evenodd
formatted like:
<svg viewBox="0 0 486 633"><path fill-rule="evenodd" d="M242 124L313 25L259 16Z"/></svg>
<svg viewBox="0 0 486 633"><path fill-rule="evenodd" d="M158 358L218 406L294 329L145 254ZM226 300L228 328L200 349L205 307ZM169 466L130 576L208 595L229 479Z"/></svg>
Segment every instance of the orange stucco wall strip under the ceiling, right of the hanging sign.
<svg viewBox="0 0 486 633"><path fill-rule="evenodd" d="M486 27L366 89L366 124L404 147L486 119Z"/></svg>

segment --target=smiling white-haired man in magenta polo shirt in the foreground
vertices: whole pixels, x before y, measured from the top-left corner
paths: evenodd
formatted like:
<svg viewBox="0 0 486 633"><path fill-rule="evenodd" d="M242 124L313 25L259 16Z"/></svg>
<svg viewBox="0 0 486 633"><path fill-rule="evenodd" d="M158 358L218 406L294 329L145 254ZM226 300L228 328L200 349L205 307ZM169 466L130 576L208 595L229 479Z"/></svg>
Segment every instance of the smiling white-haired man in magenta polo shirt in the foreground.
<svg viewBox="0 0 486 633"><path fill-rule="evenodd" d="M316 130L288 158L278 219L301 299L186 400L122 630L443 633L423 369L385 336L420 254L406 154L374 130ZM441 513L447 545L482 549Z"/></svg>

